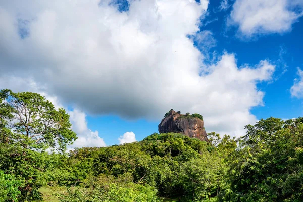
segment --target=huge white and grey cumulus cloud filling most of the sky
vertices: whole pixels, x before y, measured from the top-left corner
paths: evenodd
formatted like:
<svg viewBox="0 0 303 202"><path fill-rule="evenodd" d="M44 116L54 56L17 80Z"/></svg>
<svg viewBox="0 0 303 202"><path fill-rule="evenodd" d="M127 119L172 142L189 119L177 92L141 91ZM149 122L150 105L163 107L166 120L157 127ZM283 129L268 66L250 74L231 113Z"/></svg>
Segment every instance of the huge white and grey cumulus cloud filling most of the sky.
<svg viewBox="0 0 303 202"><path fill-rule="evenodd" d="M200 113L208 131L232 135L256 121L249 110L264 96L256 84L271 80L275 66L239 67L229 53L205 65L187 36L215 45L199 31L208 1L134 0L127 12L109 3L1 1L1 74L30 75L81 113L160 120L173 108Z"/></svg>

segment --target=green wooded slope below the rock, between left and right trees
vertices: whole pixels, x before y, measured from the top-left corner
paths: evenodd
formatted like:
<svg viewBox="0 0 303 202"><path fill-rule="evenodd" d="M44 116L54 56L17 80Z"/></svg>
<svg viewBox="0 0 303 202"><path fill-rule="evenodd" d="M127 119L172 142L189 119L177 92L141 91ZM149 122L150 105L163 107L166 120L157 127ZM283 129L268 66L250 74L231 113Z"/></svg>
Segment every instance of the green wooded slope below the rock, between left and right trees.
<svg viewBox="0 0 303 202"><path fill-rule="evenodd" d="M57 196L61 201L157 201L157 194L215 201L227 187L225 159L235 148L228 136L213 145L182 134L154 133L141 142L75 149L60 170L71 171L66 185L79 180L81 188Z"/></svg>

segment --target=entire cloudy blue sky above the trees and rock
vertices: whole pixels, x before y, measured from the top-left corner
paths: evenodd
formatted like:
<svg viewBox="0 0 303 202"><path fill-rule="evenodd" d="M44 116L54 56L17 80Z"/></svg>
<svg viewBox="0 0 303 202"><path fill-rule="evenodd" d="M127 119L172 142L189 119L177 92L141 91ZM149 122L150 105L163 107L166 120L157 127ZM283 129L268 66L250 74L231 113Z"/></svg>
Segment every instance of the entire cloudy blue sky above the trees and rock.
<svg viewBox="0 0 303 202"><path fill-rule="evenodd" d="M66 108L77 147L142 140L171 108L241 136L260 118L302 116L302 10L303 0L0 1L0 88Z"/></svg>

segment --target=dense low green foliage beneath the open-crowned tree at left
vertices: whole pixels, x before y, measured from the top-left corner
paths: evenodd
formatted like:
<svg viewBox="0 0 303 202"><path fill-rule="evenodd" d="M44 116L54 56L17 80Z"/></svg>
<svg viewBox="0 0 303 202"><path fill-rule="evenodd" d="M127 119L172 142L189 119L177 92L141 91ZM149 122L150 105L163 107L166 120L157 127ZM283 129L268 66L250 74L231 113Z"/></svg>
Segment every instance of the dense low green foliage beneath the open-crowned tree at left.
<svg viewBox="0 0 303 202"><path fill-rule="evenodd" d="M49 173L59 166L62 155L50 155L46 152L24 149L14 145L0 144L0 170L14 175L22 182L20 201L36 201L41 199L37 191L45 186L50 179ZM59 172L60 173L60 172Z"/></svg>

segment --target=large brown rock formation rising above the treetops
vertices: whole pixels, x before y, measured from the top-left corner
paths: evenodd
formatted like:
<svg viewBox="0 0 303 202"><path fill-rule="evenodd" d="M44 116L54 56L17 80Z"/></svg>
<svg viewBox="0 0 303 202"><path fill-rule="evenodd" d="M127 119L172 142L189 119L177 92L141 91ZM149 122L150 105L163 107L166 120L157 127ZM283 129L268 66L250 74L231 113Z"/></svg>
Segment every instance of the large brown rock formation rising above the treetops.
<svg viewBox="0 0 303 202"><path fill-rule="evenodd" d="M188 137L209 141L202 116L199 114L186 115L170 110L158 126L160 133L183 133Z"/></svg>

